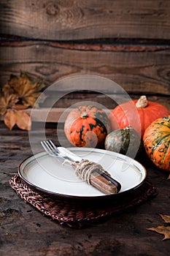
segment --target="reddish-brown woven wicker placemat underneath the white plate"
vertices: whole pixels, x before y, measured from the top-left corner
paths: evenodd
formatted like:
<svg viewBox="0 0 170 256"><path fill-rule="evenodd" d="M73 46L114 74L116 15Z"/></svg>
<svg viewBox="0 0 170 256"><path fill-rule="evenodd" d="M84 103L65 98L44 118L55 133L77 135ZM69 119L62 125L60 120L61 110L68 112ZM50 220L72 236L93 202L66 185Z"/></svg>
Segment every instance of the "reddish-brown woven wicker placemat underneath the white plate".
<svg viewBox="0 0 170 256"><path fill-rule="evenodd" d="M55 219L61 225L75 228L85 227L97 220L104 219L104 217L125 211L157 195L156 188L145 181L128 200L126 198L108 204L87 205L85 203L75 204L72 200L63 200L60 197L54 198L39 194L28 187L18 174L11 178L9 184L19 197L41 211L42 214Z"/></svg>

